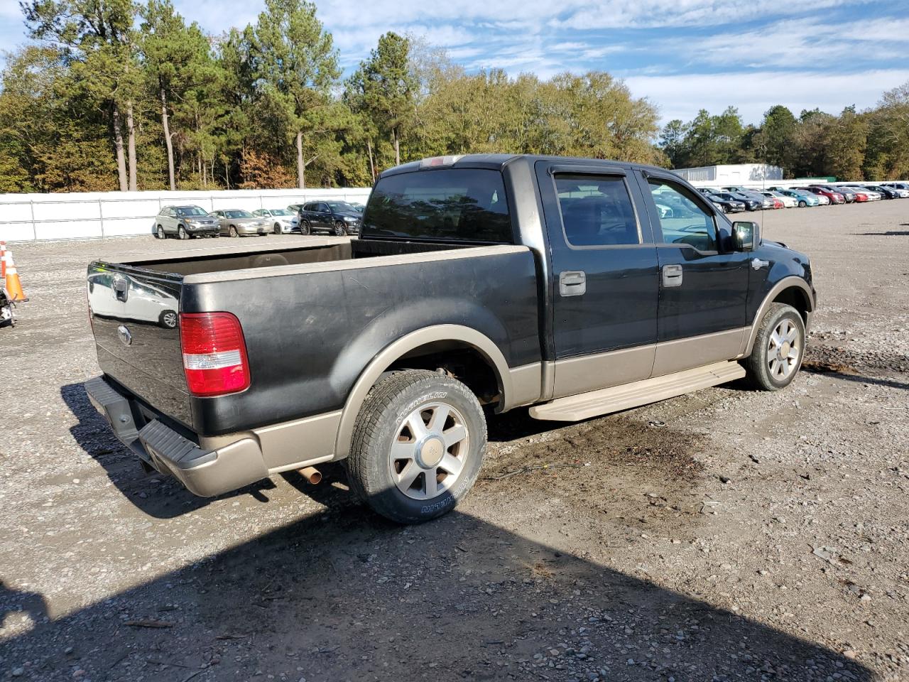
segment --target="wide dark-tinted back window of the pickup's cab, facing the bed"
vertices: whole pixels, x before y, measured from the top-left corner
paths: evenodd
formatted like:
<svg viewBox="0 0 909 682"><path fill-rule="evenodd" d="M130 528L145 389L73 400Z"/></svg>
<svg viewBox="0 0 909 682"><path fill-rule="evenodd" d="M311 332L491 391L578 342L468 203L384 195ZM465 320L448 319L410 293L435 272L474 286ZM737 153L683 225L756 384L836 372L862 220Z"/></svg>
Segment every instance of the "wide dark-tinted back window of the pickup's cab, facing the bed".
<svg viewBox="0 0 909 682"><path fill-rule="evenodd" d="M369 197L361 235L512 243L502 174L446 168L384 177Z"/></svg>

